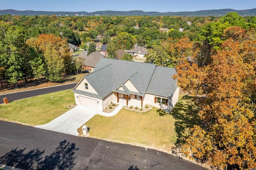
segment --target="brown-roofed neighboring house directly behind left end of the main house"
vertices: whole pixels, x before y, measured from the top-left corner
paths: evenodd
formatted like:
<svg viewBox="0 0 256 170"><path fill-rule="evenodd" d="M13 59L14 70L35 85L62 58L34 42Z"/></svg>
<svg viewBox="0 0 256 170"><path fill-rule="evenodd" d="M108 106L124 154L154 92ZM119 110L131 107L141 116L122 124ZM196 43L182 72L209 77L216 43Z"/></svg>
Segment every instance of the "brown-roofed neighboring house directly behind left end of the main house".
<svg viewBox="0 0 256 170"><path fill-rule="evenodd" d="M82 68L84 68L84 70L88 69L89 71L93 71L97 63L102 57L104 57L104 55L101 54L99 51L94 51L90 53L90 55L87 55L87 53L88 51L84 50L82 53L79 54L79 57L84 59Z"/></svg>

